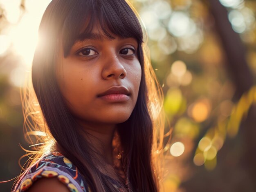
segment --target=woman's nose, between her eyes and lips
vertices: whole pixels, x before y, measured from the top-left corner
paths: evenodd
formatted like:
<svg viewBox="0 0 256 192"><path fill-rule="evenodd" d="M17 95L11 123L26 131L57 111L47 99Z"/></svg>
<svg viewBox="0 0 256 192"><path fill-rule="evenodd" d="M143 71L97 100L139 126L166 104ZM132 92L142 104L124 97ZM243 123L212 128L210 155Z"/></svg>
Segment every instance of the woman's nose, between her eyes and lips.
<svg viewBox="0 0 256 192"><path fill-rule="evenodd" d="M106 58L105 62L106 64L104 65L102 71L103 79L124 79L124 77L126 77L127 72L123 64L121 64L120 60L118 59L117 55L112 53L108 59Z"/></svg>

